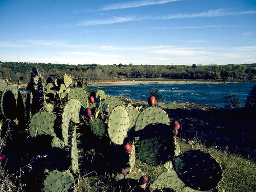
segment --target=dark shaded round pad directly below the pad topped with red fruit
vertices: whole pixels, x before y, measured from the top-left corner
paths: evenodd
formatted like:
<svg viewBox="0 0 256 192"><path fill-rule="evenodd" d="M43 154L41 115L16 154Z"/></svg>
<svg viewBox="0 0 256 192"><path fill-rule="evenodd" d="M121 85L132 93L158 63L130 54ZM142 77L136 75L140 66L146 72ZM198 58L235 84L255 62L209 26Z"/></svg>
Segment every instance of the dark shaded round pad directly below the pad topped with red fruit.
<svg viewBox="0 0 256 192"><path fill-rule="evenodd" d="M141 130L138 140L138 157L147 164L165 164L174 157L176 137L166 124L152 124Z"/></svg>

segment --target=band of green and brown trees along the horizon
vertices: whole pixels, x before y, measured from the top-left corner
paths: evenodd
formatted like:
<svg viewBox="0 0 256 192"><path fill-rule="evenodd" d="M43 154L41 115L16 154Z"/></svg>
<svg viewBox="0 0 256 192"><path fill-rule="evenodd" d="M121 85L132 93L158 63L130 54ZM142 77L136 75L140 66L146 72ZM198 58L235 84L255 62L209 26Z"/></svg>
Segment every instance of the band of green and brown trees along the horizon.
<svg viewBox="0 0 256 192"><path fill-rule="evenodd" d="M60 78L70 74L73 78L107 80L118 78L170 78L201 80L256 80L256 63L228 65L133 65L133 64L52 64L28 62L0 62L0 78L28 81L31 69L37 66L44 77Z"/></svg>

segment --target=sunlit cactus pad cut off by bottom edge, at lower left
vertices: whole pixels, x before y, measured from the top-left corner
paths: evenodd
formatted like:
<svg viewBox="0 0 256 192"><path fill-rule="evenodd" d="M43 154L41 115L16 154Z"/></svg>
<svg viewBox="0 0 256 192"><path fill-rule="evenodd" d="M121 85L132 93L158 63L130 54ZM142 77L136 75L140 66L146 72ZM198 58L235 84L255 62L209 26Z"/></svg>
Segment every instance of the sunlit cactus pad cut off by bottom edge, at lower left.
<svg viewBox="0 0 256 192"><path fill-rule="evenodd" d="M69 171L53 170L44 180L44 192L68 192L74 185L74 176Z"/></svg>

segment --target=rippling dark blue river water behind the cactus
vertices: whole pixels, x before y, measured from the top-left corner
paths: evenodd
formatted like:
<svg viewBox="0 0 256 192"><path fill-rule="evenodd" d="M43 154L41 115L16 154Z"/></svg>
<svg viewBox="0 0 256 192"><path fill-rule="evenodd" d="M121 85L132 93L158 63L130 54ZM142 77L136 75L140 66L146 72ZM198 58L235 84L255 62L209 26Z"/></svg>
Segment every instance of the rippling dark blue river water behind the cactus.
<svg viewBox="0 0 256 192"><path fill-rule="evenodd" d="M104 90L112 96L124 96L131 99L147 100L149 89L157 87L165 103L191 102L224 107L225 96L231 91L240 99L242 106L256 83L242 84L160 84L160 85L120 85L120 86L89 86Z"/></svg>

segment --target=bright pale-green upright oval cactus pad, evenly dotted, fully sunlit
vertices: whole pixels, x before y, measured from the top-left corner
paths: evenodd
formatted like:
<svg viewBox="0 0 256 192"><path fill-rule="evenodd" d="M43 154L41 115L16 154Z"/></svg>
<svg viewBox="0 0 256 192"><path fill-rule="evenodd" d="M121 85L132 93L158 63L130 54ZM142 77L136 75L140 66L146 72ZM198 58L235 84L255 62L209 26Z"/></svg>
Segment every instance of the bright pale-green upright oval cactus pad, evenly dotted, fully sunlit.
<svg viewBox="0 0 256 192"><path fill-rule="evenodd" d="M123 144L130 127L127 111L122 106L116 106L108 118L108 135L115 144Z"/></svg>

